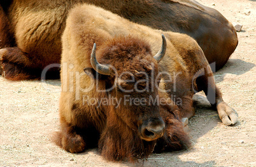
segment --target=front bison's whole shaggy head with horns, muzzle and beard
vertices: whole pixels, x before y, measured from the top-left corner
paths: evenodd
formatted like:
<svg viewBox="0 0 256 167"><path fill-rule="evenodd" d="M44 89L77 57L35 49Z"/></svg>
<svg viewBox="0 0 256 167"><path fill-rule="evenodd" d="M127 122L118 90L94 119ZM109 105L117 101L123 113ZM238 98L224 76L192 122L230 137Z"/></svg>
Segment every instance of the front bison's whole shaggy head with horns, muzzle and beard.
<svg viewBox="0 0 256 167"><path fill-rule="evenodd" d="M166 52L166 39L153 56L150 46L138 38L117 37L105 44L96 59L94 44L90 62L106 85L109 103L106 127L99 149L110 160L147 157L164 134L160 116L158 63ZM103 77L104 76L104 77ZM104 78L104 79L103 79Z"/></svg>

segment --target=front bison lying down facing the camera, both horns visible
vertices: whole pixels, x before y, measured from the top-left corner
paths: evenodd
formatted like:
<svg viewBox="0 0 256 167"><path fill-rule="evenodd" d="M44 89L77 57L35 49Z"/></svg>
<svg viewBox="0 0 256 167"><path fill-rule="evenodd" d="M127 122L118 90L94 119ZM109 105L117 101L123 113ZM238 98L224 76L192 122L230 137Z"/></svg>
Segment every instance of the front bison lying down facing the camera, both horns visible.
<svg viewBox="0 0 256 167"><path fill-rule="evenodd" d="M134 161L153 150L183 149L189 139L181 118L194 115L192 96L201 90L224 124L238 120L192 37L89 4L67 18L60 78L55 142L69 152L98 145L106 159Z"/></svg>

